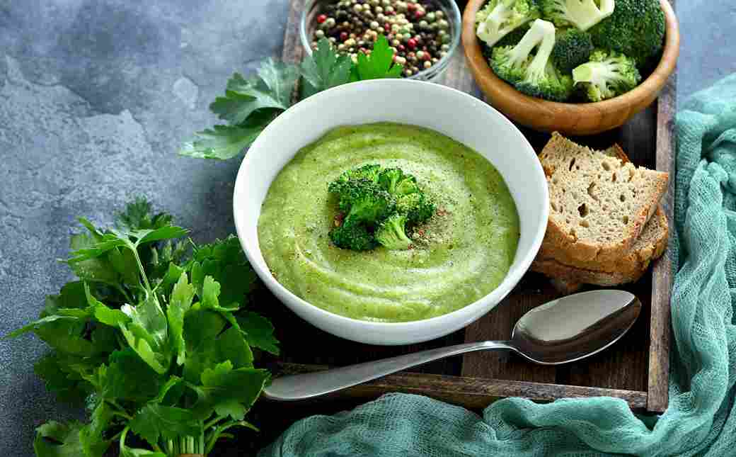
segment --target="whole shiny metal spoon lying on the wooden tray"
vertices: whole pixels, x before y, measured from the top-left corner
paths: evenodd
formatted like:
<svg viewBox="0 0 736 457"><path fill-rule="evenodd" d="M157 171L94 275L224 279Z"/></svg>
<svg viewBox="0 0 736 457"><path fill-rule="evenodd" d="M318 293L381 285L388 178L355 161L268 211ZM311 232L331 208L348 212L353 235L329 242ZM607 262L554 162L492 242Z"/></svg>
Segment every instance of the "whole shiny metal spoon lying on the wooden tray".
<svg viewBox="0 0 736 457"><path fill-rule="evenodd" d="M641 302L623 290L576 293L523 315L510 341L465 343L338 369L277 377L263 390L271 400L305 400L375 380L396 371L465 352L513 351L534 363L559 365L601 352L618 341L639 317Z"/></svg>

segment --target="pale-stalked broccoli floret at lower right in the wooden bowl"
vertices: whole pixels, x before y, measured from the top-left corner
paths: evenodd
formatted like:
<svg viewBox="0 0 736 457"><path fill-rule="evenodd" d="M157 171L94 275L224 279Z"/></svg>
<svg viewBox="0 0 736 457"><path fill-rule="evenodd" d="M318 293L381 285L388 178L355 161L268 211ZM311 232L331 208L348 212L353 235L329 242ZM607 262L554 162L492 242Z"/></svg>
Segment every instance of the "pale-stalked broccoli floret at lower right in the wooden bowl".
<svg viewBox="0 0 736 457"><path fill-rule="evenodd" d="M600 102L630 91L641 79L634 59L601 49L592 53L590 62L573 70L576 86L583 86L591 102Z"/></svg>

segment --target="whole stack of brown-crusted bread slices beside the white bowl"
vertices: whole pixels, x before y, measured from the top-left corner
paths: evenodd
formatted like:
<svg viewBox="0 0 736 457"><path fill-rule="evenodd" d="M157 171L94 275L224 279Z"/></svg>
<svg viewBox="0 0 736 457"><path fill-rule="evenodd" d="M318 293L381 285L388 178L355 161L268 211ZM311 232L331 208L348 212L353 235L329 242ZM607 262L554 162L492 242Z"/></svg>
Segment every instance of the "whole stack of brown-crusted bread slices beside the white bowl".
<svg viewBox="0 0 736 457"><path fill-rule="evenodd" d="M668 174L634 166L618 145L595 151L559 133L539 161L550 189L550 217L531 269L566 292L640 279L667 247L659 202Z"/></svg>

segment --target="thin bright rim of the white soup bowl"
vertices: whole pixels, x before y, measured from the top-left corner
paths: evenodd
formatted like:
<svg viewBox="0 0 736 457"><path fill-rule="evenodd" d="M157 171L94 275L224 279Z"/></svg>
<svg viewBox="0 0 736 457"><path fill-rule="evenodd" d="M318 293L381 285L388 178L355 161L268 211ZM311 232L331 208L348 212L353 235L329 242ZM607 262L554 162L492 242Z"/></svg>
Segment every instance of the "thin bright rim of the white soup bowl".
<svg viewBox="0 0 736 457"><path fill-rule="evenodd" d="M450 91L456 94L457 96L464 98L467 100L467 102L473 103L475 105L481 106L481 108L488 109L492 111L495 115L501 119L501 122L505 123L507 127L509 127L513 132L514 135L517 135L523 144L526 144L526 147L528 147L528 153L533 154L536 157L536 153L534 153L534 148L531 147L531 144L528 142L528 139L526 139L526 136L521 133L521 131L508 119L506 116L503 116L498 110L493 108L491 105L487 104L486 102L479 100L476 97L473 97L470 94L467 94L463 91L459 91L456 88L451 88L449 86L442 86L437 83L431 83L429 81L421 81L421 80L410 80L407 78L392 78L392 79L382 79L382 80L365 80L365 81L358 81L356 83L348 83L343 84L342 86L336 86L333 88L330 88L326 91L319 92L318 94L314 94L311 97L308 97L305 100L302 100L300 102L295 103L292 105L289 109L284 111L282 114L280 114L273 122L271 122L268 126L266 126L265 129L263 129L263 132L258 136L257 139L255 139L255 142L253 142L250 147L250 149L253 149L255 147L260 146L261 139L266 136L266 133L268 133L269 130L273 130L278 127L278 125L287 123L291 121L291 118L294 116L298 116L300 111L307 110L312 105L319 105L320 102L322 102L322 99L327 97L336 97L339 93L343 91L354 91L358 90L360 86L372 86L372 85L405 85L405 84L412 84L412 85L422 85L425 86L427 91ZM339 126L339 124L336 124L335 127ZM307 146L307 144L304 144L304 146ZM297 151L294 151L294 154L296 154ZM458 308L457 310L453 310L450 313L446 313L443 315L438 315L432 318L426 318L421 319L419 321L406 321L406 322L374 322L374 321L364 321L361 319L355 319L355 318L349 318L344 315L339 315L336 313L331 313L328 310L323 310L322 308L309 303L305 299L302 299L300 296L297 296L291 290L287 289L283 285L281 285L280 282L278 282L270 271L261 271L260 266L257 262L255 262L254 257L252 256L250 252L250 246L252 245L255 249L258 250L259 253L261 253L261 245L258 243L258 239L252 240L252 243L248 243L248 240L244 237L242 232L244 229L242 228L245 223L242 220L244 216L240 215L241 213L238 212L238 203L240 202L240 195L243 192L239 192L238 189L241 189L242 184L240 184L240 181L245 179L243 175L245 174L245 170L249 166L249 164L255 160L255 158L252 158L253 156L250 156L247 152L245 153L245 157L243 158L243 161L240 164L240 167L238 168L238 175L236 176L236 182L235 182L235 188L233 189L233 219L235 221L235 227L236 227L236 233L238 234L238 240L240 240L241 247L243 248L243 251L245 251L246 257L250 264L252 265L252 268L255 270L256 273L258 273L258 276L261 278L263 282L266 282L266 285L269 286L269 288L275 287L277 290L280 291L280 293L283 293L286 296L289 296L291 299L294 300L294 302L300 304L302 307L308 308L308 310L311 313L316 313L320 315L322 318L328 319L330 321L333 321L336 324L346 324L346 325L361 325L366 327L367 329L375 328L375 329L385 329L385 328L392 328L392 329L402 329L405 328L407 330L411 329L419 329L421 327L430 327L432 324L440 324L442 321L450 321L452 319L451 316L456 315L458 313L467 313L467 314L473 314L473 311L475 311L477 308L484 307L486 305L486 301L489 301L488 299L491 298L491 301L495 301L496 304L500 300L502 300L506 295L508 295L514 285L516 285L520 279L526 274L526 272L529 270L529 267L531 266L531 262L534 260L534 257L537 255L537 252L539 251L539 248L542 245L542 239L544 238L545 231L547 229L546 223L540 223L539 227L537 228L537 233L534 234L534 240L531 243L531 249L526 253L526 256L521 259L520 262L520 268L517 269L514 273L506 273L506 276L504 276L503 281L495 287L494 290L492 290L489 293L486 293L486 295L482 296L480 299L473 301L473 303L467 304L464 307ZM486 160L488 160L486 158ZM536 167L536 170L534 172L537 173L537 178L539 178L542 181L546 181L544 170L542 169L542 164L540 164L537 161L538 166ZM270 185L270 184L269 184ZM542 205L542 212L540 214L540 219L543 221L548 220L549 218L549 189L547 186L542 186L542 192L544 193L544 200L545 204ZM261 202L263 203L263 202ZM517 254L518 255L518 252ZM261 257L263 257L263 254L261 253ZM509 284L512 284L511 287L508 287ZM503 291L504 289L508 289L506 291ZM276 297L277 298L277 297ZM279 300L281 301L281 300ZM284 306L289 307L289 305L282 303ZM311 324L311 323L310 323ZM312 324L314 325L314 324ZM464 326L463 326L464 327Z"/></svg>

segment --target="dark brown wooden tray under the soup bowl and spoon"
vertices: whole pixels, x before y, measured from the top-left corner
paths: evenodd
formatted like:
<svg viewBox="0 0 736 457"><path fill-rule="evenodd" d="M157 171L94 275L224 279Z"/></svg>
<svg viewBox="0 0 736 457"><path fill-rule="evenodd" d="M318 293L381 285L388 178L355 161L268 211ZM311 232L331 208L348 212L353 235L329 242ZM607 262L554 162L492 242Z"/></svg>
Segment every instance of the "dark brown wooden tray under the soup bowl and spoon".
<svg viewBox="0 0 736 457"><path fill-rule="evenodd" d="M286 61L297 62L302 58L299 21L304 1L291 0L282 56ZM447 72L437 82L480 97L465 65L462 49L456 51ZM672 77L659 100L623 128L576 139L601 149L618 142L634 163L670 172L670 189L663 200L670 228L673 224L674 109L675 78ZM549 138L548 134L525 128L522 131L536 148L541 148ZM671 259L666 253L654 262L651 273L637 284L626 287L644 304L639 321L615 346L587 360L551 367L537 366L520 357L498 352L475 352L429 363L415 372L383 377L332 397L367 400L387 392L409 392L468 408L483 408L499 397L551 401L563 397L610 396L626 400L631 408L639 411L664 411L668 403L670 268ZM274 299L269 303L268 313L283 343L283 353L275 369L281 374L300 373L465 341L506 339L521 315L555 297L556 293L547 279L528 273L498 307L466 329L436 341L400 347L368 346L328 335L305 323ZM324 400L320 401L324 403ZM273 408L286 411L301 407L282 404L270 405L269 408L270 415L275 414ZM323 409L320 406L317 411L312 411ZM303 408L301 411L298 416L310 414Z"/></svg>

